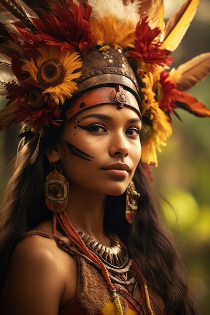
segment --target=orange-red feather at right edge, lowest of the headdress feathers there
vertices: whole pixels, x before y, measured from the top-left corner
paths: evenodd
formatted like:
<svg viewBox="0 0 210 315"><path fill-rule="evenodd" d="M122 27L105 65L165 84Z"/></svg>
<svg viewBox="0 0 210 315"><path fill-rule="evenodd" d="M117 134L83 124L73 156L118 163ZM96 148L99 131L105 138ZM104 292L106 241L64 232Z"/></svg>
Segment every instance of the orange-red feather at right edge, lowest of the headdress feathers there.
<svg viewBox="0 0 210 315"><path fill-rule="evenodd" d="M199 102L191 94L183 92L180 96L178 96L176 105L195 116L210 117L210 109L206 108L203 103Z"/></svg>

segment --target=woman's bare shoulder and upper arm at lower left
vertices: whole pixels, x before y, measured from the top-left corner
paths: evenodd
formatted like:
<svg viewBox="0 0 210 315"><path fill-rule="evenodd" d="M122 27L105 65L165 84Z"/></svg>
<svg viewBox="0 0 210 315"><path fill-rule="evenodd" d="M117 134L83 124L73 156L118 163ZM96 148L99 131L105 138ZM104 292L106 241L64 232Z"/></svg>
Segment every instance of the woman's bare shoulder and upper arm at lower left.
<svg viewBox="0 0 210 315"><path fill-rule="evenodd" d="M2 313L57 315L59 308L75 297L76 281L75 259L58 248L54 240L32 235L14 249L3 290Z"/></svg>

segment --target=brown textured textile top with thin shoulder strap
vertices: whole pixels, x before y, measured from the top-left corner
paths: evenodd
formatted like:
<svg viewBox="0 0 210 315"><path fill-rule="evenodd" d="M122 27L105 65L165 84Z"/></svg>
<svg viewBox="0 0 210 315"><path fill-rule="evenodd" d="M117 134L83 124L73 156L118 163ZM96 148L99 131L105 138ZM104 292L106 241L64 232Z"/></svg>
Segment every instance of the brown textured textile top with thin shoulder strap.
<svg viewBox="0 0 210 315"><path fill-rule="evenodd" d="M59 311L59 315L116 315L108 284L95 263L75 250L73 245L68 245L56 235L41 230L32 230L23 234L19 243L31 235L40 235L54 240L61 250L73 256L78 262L77 295L72 302ZM143 283L139 283L139 285L142 292L140 301L136 301L127 291L116 286L123 315L151 315L145 299ZM150 288L148 290L154 315L166 315L162 298L152 292Z"/></svg>

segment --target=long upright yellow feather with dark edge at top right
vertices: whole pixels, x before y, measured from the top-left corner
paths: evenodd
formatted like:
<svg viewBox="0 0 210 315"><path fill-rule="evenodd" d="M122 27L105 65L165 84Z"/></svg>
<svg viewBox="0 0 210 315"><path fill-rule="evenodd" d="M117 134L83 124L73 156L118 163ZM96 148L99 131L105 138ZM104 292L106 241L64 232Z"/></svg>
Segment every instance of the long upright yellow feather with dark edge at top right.
<svg viewBox="0 0 210 315"><path fill-rule="evenodd" d="M163 49L174 51L178 47L196 13L198 4L199 0L187 0L168 21L161 45Z"/></svg>

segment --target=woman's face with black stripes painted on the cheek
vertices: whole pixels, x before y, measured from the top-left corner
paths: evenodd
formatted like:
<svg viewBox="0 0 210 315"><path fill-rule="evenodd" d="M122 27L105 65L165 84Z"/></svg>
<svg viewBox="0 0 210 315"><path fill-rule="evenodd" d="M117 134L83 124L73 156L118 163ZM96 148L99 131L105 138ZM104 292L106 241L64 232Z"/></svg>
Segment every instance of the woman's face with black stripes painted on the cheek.
<svg viewBox="0 0 210 315"><path fill-rule="evenodd" d="M115 104L91 107L67 121L58 153L70 187L121 195L141 157L141 128L134 110Z"/></svg>

